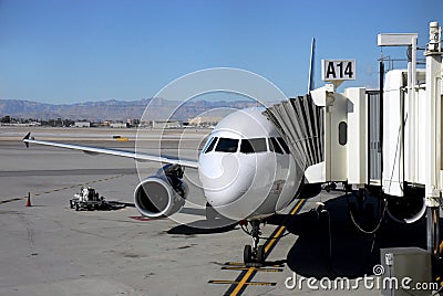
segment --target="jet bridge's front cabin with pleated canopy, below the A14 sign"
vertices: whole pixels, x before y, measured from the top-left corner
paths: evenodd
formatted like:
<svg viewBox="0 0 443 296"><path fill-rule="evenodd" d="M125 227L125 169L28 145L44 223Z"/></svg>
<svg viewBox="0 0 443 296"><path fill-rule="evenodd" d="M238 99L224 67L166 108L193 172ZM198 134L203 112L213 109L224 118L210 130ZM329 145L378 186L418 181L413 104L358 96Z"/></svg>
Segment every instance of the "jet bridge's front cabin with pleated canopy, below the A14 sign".
<svg viewBox="0 0 443 296"><path fill-rule="evenodd" d="M368 183L367 91L328 84L269 107L265 115L288 142L307 183Z"/></svg>

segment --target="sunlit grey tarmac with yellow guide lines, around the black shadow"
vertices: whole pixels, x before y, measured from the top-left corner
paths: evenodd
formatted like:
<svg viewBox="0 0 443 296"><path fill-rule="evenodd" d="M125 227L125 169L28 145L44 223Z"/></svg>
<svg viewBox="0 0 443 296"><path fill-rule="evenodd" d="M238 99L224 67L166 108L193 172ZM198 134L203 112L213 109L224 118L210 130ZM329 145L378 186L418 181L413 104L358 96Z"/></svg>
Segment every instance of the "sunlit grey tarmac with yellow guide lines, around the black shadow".
<svg viewBox="0 0 443 296"><path fill-rule="evenodd" d="M0 295L380 295L363 286L343 290L288 284L301 276L349 276L354 283L372 275L380 247L425 243L410 235L421 233L422 224L412 230L383 224L377 237L365 236L349 224L343 192L321 193L296 200L268 221L262 230L262 236L274 237L262 240L268 263L249 268L241 262L250 237L238 225L205 228L205 200L196 186L189 193L193 204L185 204L177 219L143 219L133 205L137 168L148 176L159 165L27 148L21 138L28 131L41 140L126 150L134 149L136 139L135 129L0 127ZM195 158L208 133L168 130L162 149L174 155L181 147ZM128 140L117 141L115 135ZM147 150L158 146L159 131L144 135ZM196 171L186 173L197 180ZM69 200L85 186L122 207L70 209ZM29 193L32 207L25 207ZM317 202L327 204L327 228L324 216L312 210Z"/></svg>

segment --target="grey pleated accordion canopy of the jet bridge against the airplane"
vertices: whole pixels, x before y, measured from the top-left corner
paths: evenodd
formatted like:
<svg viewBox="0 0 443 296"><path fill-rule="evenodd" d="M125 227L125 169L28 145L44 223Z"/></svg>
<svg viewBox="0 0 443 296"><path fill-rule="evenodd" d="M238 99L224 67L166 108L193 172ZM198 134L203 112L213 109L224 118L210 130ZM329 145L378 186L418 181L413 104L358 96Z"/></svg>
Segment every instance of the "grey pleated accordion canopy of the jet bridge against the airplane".
<svg viewBox="0 0 443 296"><path fill-rule="evenodd" d="M313 104L310 95L272 105L264 115L284 137L300 168L306 170L324 160L324 108Z"/></svg>

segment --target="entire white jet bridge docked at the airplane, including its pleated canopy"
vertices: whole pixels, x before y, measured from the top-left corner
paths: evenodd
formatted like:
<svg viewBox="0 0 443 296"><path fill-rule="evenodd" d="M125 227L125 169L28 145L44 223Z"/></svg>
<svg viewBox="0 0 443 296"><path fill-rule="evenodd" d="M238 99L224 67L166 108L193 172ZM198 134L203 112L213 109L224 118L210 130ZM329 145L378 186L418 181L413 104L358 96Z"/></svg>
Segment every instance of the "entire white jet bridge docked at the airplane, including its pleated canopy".
<svg viewBox="0 0 443 296"><path fill-rule="evenodd" d="M352 62L323 61L323 81L328 84L274 105L264 114L305 169L306 183L375 186L389 200L389 214L406 223L418 221L427 209L427 247L437 256L443 189L439 23L430 24L425 68L416 68L416 42L418 34L379 35L379 46L410 49L408 68L381 75L381 92L349 87L338 93L340 78L346 80L340 75L354 73L352 67L344 67ZM324 78L324 72L330 76Z"/></svg>

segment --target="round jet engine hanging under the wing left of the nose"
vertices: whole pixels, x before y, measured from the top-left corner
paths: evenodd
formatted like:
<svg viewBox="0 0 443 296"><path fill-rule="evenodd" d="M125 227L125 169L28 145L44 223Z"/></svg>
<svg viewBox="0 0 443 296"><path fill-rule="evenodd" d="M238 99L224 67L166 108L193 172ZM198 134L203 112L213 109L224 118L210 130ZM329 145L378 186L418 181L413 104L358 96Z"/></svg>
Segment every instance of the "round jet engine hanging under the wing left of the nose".
<svg viewBox="0 0 443 296"><path fill-rule="evenodd" d="M187 184L182 180L179 165L166 165L154 176L144 179L134 192L134 203L145 216L169 216L185 204Z"/></svg>

